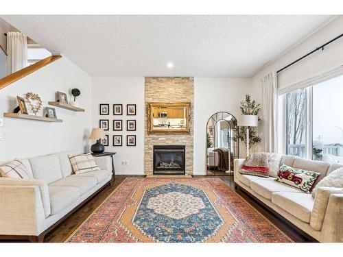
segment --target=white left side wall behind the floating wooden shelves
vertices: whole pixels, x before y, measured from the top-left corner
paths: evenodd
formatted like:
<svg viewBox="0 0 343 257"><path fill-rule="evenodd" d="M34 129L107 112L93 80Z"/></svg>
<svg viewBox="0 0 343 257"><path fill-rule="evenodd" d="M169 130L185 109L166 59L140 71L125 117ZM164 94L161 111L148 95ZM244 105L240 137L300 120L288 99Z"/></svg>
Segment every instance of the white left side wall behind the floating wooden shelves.
<svg viewBox="0 0 343 257"><path fill-rule="evenodd" d="M43 100L55 100L56 91L68 93L71 88L80 88L80 107L86 112L72 112L56 108L62 123L47 123L21 119L3 118L3 112L12 112L16 96L27 92L37 93ZM54 106L50 106L54 107ZM43 109L38 115L43 115ZM3 118L5 140L0 141L0 161L25 158L56 151L88 149L88 134L91 129L91 77L67 58L61 58L44 68L0 89L0 117Z"/></svg>

